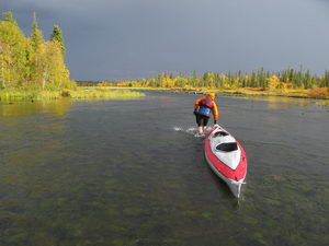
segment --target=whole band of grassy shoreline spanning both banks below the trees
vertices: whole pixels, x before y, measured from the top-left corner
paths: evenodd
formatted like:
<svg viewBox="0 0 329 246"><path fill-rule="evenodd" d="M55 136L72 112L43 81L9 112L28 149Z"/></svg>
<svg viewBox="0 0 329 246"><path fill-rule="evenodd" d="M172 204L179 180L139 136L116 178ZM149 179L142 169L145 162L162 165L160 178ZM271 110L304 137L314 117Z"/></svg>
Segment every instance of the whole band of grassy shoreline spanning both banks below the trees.
<svg viewBox="0 0 329 246"><path fill-rule="evenodd" d="M295 98L315 98L329 101L329 89L321 91L311 90L262 90L262 89L195 89L195 87L125 87L125 86L78 86L75 90L42 91L42 90L0 90L0 101L47 101L68 97L71 99L115 99L134 98L145 96L141 92L131 90L150 91L172 91L174 93L205 94L208 92L218 93L226 96L280 96ZM327 91L326 91L327 90Z"/></svg>

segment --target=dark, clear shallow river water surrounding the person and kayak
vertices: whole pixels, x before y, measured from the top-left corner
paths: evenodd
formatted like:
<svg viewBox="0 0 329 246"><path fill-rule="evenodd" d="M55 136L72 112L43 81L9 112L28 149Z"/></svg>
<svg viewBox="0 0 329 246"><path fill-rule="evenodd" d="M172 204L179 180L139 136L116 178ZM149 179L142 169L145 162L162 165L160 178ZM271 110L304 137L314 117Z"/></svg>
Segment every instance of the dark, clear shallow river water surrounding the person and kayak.
<svg viewBox="0 0 329 246"><path fill-rule="evenodd" d="M197 95L1 103L1 246L329 245L329 108L219 97L239 202L195 138Z"/></svg>

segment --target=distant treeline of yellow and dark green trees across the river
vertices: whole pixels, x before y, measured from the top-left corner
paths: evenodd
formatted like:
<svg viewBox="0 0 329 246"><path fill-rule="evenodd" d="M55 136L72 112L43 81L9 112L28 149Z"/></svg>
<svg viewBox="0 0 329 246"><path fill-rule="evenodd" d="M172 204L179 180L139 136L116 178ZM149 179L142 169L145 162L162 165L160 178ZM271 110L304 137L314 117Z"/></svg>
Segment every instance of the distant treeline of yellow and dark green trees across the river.
<svg viewBox="0 0 329 246"><path fill-rule="evenodd" d="M261 90L275 89L319 89L329 87L329 71L324 75L311 74L309 70L286 69L281 72L260 69L251 73L241 71L235 73L205 72L198 78L196 72L192 75L178 75L160 73L157 78L136 81L110 82L104 81L99 85L141 86L141 87L181 87L181 89L239 89L254 87Z"/></svg>

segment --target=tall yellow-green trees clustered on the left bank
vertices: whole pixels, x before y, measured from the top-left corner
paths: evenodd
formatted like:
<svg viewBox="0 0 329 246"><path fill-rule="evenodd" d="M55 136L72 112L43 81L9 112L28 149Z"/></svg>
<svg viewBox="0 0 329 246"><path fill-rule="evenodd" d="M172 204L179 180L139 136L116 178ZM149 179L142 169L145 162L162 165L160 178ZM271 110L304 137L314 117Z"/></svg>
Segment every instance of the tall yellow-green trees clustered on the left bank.
<svg viewBox="0 0 329 246"><path fill-rule="evenodd" d="M32 32L26 37L11 12L0 21L0 87L60 90L75 87L69 79L65 44L59 26L55 25L45 40L33 13Z"/></svg>

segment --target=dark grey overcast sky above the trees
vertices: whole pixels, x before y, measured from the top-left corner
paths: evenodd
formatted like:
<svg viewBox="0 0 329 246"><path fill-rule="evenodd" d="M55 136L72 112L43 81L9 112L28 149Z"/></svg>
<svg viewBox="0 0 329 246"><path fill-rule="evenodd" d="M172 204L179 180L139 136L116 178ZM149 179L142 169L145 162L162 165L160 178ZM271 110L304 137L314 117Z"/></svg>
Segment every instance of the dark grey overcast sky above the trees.
<svg viewBox="0 0 329 246"><path fill-rule="evenodd" d="M329 0L0 0L26 35L59 25L73 80L329 70Z"/></svg>

